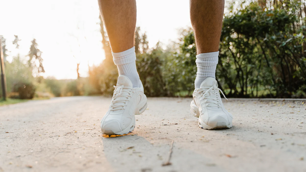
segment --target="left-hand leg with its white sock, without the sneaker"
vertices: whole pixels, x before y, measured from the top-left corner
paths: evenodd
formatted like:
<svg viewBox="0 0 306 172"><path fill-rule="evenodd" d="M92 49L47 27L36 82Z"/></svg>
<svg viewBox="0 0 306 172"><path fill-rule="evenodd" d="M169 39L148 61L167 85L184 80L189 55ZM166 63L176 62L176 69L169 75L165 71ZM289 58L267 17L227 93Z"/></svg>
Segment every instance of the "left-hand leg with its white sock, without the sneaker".
<svg viewBox="0 0 306 172"><path fill-rule="evenodd" d="M140 87L134 47L136 0L98 0L98 2L119 76L127 77L133 87Z"/></svg>

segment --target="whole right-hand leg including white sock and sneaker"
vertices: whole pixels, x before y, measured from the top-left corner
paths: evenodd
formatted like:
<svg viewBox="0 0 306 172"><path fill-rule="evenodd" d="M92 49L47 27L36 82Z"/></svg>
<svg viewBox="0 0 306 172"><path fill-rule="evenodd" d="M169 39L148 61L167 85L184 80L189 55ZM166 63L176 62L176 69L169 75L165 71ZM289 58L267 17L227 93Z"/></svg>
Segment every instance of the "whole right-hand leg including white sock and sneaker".
<svg viewBox="0 0 306 172"><path fill-rule="evenodd" d="M223 11L224 0L190 0L190 18L198 54L196 89L190 107L191 113L199 117L199 126L203 129L233 126L233 115L225 110L215 79ZM200 99L204 100L204 104L200 103Z"/></svg>

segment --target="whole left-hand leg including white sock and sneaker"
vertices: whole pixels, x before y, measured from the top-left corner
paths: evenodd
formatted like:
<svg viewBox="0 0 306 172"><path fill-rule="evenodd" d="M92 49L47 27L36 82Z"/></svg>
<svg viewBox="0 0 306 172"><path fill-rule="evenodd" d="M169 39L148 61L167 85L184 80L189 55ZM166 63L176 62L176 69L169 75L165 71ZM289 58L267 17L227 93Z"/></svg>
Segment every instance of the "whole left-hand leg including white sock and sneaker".
<svg viewBox="0 0 306 172"><path fill-rule="evenodd" d="M101 120L101 132L107 135L123 135L135 128L134 114L141 114L147 108L147 97L144 95L135 62L136 1L98 2L110 39L113 60L119 72L110 109Z"/></svg>

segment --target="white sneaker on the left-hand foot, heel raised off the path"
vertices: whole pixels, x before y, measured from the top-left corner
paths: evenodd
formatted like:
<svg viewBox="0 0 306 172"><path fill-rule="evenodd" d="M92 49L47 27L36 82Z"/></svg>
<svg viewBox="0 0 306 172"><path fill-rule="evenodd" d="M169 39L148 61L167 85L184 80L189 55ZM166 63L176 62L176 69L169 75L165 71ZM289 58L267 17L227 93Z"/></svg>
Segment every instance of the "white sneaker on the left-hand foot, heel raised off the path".
<svg viewBox="0 0 306 172"><path fill-rule="evenodd" d="M141 83L141 82L140 82ZM147 108L144 87L133 88L128 77L120 75L110 108L101 120L102 134L123 135L135 128L135 114L141 114Z"/></svg>

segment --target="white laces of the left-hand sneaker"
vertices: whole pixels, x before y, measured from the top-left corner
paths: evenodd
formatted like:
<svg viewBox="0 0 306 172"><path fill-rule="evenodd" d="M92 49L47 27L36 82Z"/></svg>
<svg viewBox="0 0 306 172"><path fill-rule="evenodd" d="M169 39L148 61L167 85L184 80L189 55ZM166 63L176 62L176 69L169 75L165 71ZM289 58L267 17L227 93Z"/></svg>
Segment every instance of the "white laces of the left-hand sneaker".
<svg viewBox="0 0 306 172"><path fill-rule="evenodd" d="M131 98L131 93L135 92L135 89L132 87L124 87L123 85L114 86L114 95L112 98L112 102L110 104L110 110L121 110L124 109L126 102ZM128 95L123 95L122 92L127 92ZM120 99L120 97L125 97L126 99ZM124 104L121 104L124 103Z"/></svg>

